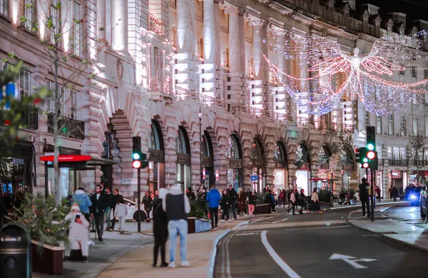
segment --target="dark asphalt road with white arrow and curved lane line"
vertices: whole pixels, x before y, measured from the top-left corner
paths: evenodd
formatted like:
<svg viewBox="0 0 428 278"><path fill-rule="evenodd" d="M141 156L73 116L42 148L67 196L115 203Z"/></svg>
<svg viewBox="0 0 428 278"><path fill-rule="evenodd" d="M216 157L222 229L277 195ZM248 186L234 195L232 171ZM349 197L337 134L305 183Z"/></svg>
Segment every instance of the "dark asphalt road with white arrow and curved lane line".
<svg viewBox="0 0 428 278"><path fill-rule="evenodd" d="M426 277L428 254L351 227L355 210L254 218L220 240L215 277Z"/></svg>

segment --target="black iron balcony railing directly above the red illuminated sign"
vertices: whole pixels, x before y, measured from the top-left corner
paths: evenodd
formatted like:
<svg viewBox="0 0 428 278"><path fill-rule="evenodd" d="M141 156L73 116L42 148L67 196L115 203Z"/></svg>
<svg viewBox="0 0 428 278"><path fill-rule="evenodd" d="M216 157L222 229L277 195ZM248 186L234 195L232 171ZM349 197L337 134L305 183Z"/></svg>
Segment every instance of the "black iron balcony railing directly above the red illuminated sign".
<svg viewBox="0 0 428 278"><path fill-rule="evenodd" d="M54 134L54 132L54 113L49 113L48 133ZM85 123L81 120L58 116L58 133L64 137L83 140L85 139Z"/></svg>

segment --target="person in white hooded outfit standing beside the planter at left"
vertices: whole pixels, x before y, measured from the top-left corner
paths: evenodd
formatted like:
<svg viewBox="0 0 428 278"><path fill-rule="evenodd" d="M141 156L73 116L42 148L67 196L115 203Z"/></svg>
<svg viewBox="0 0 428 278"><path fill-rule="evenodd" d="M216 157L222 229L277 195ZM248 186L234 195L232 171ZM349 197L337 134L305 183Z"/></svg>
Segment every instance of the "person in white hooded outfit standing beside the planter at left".
<svg viewBox="0 0 428 278"><path fill-rule="evenodd" d="M80 208L76 203L71 206L71 212L66 215L65 220L71 221L70 230L68 232L68 240L70 240L70 247L76 242L80 245L83 262L88 262L89 244L88 244L88 227L89 222L81 213ZM66 262L70 257L71 248L66 249Z"/></svg>

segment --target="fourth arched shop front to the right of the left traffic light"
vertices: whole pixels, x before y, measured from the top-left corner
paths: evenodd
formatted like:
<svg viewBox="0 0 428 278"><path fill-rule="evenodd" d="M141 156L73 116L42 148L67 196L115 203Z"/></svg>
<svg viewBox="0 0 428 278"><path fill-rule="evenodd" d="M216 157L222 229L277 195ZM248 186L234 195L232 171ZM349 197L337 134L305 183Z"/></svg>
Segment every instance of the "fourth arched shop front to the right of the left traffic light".
<svg viewBox="0 0 428 278"><path fill-rule="evenodd" d="M225 155L228 158L227 183L238 192L238 187L243 186L243 157L238 135L230 135Z"/></svg>

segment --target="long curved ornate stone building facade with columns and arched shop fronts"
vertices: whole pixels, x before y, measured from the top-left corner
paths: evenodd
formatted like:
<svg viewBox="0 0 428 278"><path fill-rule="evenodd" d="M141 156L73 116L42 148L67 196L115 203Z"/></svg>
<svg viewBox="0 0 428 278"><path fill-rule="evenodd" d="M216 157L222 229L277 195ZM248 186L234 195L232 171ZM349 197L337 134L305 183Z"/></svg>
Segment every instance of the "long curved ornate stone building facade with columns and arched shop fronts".
<svg viewBox="0 0 428 278"><path fill-rule="evenodd" d="M29 86L20 85L28 93L49 86L52 73L44 49L37 43L43 30L34 32L28 21L20 19L31 15L42 26L46 21L43 12L60 1L0 0L0 56L8 58L13 52L22 58L21 78L28 79ZM72 48L66 43L61 47L65 55L73 54L64 68L72 71L76 64L87 63L74 81L75 88L67 93L72 103L66 106L66 115L84 132L62 133L62 151L117 164L78 174L63 170L61 194L71 192L73 184L93 187L106 180L122 195L133 195L133 136L141 137L142 151L150 160L141 175L143 190L177 182L198 187L204 182L202 175L210 187L233 183L255 190L288 185L310 190L308 179L325 177L328 172L328 177L337 179L339 190L342 184L356 184L360 173L352 150L346 150L342 160L331 159L332 146L340 132L358 139L367 123L381 125L377 143L385 163L379 181L383 191L389 187L392 167L386 158L395 152L389 148L408 145L408 138L395 132L402 126L401 116L392 115L392 121L390 116L380 120L376 115L367 116L362 104L349 96L343 96L343 107L326 115L302 113L269 71L263 54L285 73L305 78L305 63L275 53L269 39L285 43L285 31L331 36L344 53L352 53L355 47L367 53L382 35L417 43L416 34L427 21L407 28L405 15L404 21L396 14L381 18L376 6L356 6L355 1L72 2L68 11L61 9L62 18L72 15L83 21L77 31L63 30L63 38L74 40ZM427 66L418 66L416 75L412 70L404 74L427 78L428 71L419 68ZM341 79L337 77L335 86L341 86ZM296 86L307 91L309 84ZM407 105L406 109L400 115L411 118L404 119L404 125L411 130L415 126L414 134L425 136L424 105ZM22 131L31 135L34 145L31 165L35 165L35 179L30 181L34 191L45 187L44 163L39 158L50 152L53 142L49 121L48 114L38 115L37 126ZM393 125L392 133L389 125Z"/></svg>

